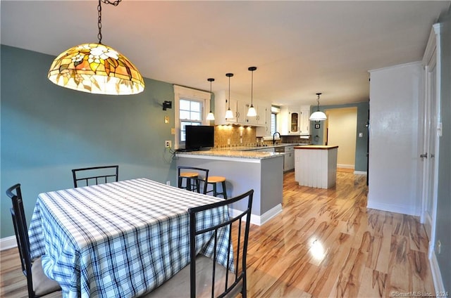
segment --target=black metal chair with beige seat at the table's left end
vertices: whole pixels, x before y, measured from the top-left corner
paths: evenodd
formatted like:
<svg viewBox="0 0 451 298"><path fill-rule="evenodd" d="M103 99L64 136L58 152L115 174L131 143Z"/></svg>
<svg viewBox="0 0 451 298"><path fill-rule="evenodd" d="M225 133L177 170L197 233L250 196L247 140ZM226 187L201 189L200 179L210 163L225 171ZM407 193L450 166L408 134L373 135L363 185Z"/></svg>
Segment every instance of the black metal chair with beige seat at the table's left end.
<svg viewBox="0 0 451 298"><path fill-rule="evenodd" d="M42 270L41 258L32 260L30 257L30 240L28 239L27 221L23 211L22 192L20 184L11 186L6 190L6 195L11 197L13 207L14 232L16 233L22 272L27 278L28 297L42 297L44 295L61 291L61 287L55 280L47 278Z"/></svg>

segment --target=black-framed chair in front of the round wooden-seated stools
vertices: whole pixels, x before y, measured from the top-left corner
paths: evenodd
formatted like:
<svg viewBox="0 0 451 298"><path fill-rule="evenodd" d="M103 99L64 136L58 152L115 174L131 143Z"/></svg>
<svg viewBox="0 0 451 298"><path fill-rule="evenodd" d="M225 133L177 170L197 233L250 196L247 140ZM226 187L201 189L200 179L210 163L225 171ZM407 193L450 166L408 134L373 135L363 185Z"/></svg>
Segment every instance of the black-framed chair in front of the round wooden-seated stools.
<svg viewBox="0 0 451 298"><path fill-rule="evenodd" d="M209 170L198 167L178 166L178 188L196 191L197 193L206 194L208 186ZM185 179L185 184L183 183Z"/></svg>

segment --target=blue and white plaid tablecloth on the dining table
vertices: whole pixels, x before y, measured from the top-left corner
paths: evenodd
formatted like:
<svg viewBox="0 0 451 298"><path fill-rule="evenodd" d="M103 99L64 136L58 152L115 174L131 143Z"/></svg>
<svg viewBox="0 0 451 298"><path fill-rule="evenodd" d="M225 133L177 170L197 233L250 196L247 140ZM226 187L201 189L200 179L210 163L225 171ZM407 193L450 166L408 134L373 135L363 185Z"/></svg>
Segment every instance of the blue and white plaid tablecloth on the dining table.
<svg viewBox="0 0 451 298"><path fill-rule="evenodd" d="M44 273L63 297L137 297L189 263L187 209L218 200L149 179L42 193L28 232L32 257L44 255ZM215 209L197 224L226 217L227 209ZM225 263L228 231L220 238ZM199 240L199 252L211 250Z"/></svg>

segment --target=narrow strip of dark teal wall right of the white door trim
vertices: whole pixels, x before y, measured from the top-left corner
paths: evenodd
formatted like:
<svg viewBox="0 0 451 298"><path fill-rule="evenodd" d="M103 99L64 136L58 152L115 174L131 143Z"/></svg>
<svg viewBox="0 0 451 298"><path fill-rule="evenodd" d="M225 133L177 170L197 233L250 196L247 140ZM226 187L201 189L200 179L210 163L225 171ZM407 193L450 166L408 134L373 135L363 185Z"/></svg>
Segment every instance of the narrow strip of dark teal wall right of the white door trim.
<svg viewBox="0 0 451 298"><path fill-rule="evenodd" d="M445 291L451 292L451 8L440 18L441 32L441 99L443 136L440 137L438 164L437 222L435 240L442 243L441 253L435 246Z"/></svg>

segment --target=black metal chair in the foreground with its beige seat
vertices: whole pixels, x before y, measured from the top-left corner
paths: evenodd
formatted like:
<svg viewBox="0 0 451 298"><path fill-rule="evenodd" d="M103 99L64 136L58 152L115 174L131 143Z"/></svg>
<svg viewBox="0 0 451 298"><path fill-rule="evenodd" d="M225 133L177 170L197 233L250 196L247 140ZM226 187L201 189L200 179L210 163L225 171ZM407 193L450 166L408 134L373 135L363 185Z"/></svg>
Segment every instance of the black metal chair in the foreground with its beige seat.
<svg viewBox="0 0 451 298"><path fill-rule="evenodd" d="M187 297L188 293L191 298L236 297L241 293L242 297L246 298L246 256L253 195L254 190L249 190L247 193L228 200L188 209L190 214L190 265L145 297ZM237 215L230 215L228 220L210 228L206 228L204 223L196 222L199 212L209 212L211 209L224 206L231 207L231 204L244 211L236 212ZM230 251L230 248L233 247L234 255L233 260L227 260L225 267L216 261L216 251L219 250L216 244L218 230L226 226L230 228L229 242L228 247L223 247L223 249ZM196 239L205 233L213 235L211 241L214 241L215 250L217 249L213 254L213 259L204 257L202 254L196 255ZM234 270L231 271L228 268L234 268Z"/></svg>

